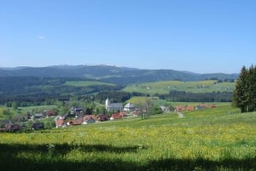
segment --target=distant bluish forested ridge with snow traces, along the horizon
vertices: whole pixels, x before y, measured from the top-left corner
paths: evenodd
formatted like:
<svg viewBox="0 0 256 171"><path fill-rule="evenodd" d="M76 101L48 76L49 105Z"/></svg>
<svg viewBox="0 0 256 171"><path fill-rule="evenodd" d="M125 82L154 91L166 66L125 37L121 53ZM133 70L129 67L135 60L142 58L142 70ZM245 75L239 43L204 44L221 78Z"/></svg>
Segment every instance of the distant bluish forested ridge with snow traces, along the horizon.
<svg viewBox="0 0 256 171"><path fill-rule="evenodd" d="M200 81L236 79L238 74L197 74L189 71L143 70L119 66L47 66L1 68L0 77L81 77L116 84L147 83L167 80Z"/></svg>

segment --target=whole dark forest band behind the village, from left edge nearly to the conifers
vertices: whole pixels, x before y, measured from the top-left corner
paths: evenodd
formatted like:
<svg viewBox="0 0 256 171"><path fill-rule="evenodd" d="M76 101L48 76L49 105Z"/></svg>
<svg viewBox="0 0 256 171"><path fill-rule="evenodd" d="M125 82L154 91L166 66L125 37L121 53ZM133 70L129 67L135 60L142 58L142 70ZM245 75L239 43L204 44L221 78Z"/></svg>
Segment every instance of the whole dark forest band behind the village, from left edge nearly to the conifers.
<svg viewBox="0 0 256 171"><path fill-rule="evenodd" d="M107 97L125 102L134 96L156 96L168 101L230 102L232 92L189 93L169 89L164 94L140 91L126 92L125 85L102 83L88 78L73 77L0 77L0 105L17 102L18 106L53 105L52 101L73 98L104 103Z"/></svg>

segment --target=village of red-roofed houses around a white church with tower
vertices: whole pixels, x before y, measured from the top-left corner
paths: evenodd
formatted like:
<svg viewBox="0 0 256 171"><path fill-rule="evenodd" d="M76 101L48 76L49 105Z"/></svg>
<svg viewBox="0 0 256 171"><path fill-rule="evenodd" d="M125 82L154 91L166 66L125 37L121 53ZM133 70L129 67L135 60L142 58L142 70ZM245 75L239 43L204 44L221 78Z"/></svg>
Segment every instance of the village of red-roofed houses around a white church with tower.
<svg viewBox="0 0 256 171"><path fill-rule="evenodd" d="M183 111L194 111L206 108L213 108L216 105L177 105L172 109L169 106L160 105L160 110L163 113L177 113L178 115L182 115ZM45 128L66 128L90 123L99 123L106 121L113 121L127 117L142 117L148 118L148 109L146 107L141 108L137 107L133 103L111 103L111 101L107 98L105 100L105 109L106 113L102 114L86 114L84 113L84 108L80 106L72 106L68 114L57 115L57 113L53 110L44 110L42 112L36 112L34 114L27 113L27 116L20 117L16 116L13 121L1 121L0 132L20 132L24 130L39 130ZM45 123L42 122L44 118L52 118L54 120L54 124L46 127ZM26 122L30 122L31 124L27 126Z"/></svg>

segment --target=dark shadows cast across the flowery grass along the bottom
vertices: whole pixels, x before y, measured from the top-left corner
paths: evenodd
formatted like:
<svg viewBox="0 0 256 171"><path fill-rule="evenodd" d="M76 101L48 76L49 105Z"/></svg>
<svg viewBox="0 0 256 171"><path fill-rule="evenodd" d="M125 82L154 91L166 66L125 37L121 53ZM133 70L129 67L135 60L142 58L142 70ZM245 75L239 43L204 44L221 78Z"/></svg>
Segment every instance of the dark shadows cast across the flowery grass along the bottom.
<svg viewBox="0 0 256 171"><path fill-rule="evenodd" d="M223 161L212 161L203 158L198 159L177 159L168 158L162 160L153 160L148 162L129 162L122 160L112 160L107 157L99 157L93 160L84 158L83 162L69 162L64 159L35 158L24 159L17 157L20 152L27 153L49 153L47 145L0 145L0 167L3 171L19 170L19 171L131 171L131 170L256 170L256 158L234 159L229 158ZM55 145L55 155L67 153L75 148L90 152L137 152L137 146L131 147L115 147L112 145ZM62 148L62 149L61 149Z"/></svg>

